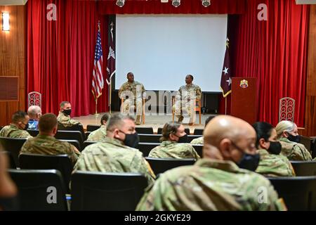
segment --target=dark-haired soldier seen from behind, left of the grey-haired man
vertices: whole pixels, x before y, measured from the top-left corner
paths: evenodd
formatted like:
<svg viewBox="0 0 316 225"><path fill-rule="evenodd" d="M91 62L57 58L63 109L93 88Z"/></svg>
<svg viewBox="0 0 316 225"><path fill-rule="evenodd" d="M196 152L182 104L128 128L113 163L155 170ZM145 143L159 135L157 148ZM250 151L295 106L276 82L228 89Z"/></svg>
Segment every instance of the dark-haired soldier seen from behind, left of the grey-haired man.
<svg viewBox="0 0 316 225"><path fill-rule="evenodd" d="M67 154L72 165L77 162L79 150L72 144L55 139L57 133L57 118L53 113L47 113L39 119L39 134L34 139L27 140L20 153L39 155Z"/></svg>

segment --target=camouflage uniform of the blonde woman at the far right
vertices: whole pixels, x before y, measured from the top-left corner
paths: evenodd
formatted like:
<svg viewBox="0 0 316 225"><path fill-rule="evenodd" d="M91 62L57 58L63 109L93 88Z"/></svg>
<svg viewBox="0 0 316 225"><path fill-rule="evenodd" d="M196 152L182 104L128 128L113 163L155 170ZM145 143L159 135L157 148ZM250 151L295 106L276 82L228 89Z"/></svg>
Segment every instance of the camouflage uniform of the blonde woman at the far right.
<svg viewBox="0 0 316 225"><path fill-rule="evenodd" d="M308 161L312 160L312 155L301 143L289 141L289 139L282 137L279 139L282 145L281 155L286 156L289 160Z"/></svg>

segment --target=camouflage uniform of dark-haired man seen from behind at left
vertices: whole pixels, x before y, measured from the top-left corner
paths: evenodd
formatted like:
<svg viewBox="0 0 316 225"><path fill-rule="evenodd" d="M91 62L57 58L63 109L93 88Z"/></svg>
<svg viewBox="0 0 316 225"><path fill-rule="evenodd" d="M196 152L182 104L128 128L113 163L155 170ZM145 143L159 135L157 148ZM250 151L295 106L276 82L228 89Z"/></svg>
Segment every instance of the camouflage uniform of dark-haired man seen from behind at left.
<svg viewBox="0 0 316 225"><path fill-rule="evenodd" d="M80 155L79 150L72 144L65 141L59 141L53 136L37 135L33 139L25 141L20 153L39 154L39 155L63 155L67 154L72 165L77 162Z"/></svg>

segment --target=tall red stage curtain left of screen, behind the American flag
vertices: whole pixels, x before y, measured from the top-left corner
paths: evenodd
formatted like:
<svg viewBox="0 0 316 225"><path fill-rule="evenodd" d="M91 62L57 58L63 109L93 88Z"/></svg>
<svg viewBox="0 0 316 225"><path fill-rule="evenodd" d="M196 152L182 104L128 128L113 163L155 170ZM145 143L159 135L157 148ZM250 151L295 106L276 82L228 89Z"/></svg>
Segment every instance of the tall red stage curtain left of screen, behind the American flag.
<svg viewBox="0 0 316 225"><path fill-rule="evenodd" d="M46 6L57 6L57 20L48 21ZM107 65L107 17L96 1L30 0L27 2L27 92L42 94L44 113L58 113L61 101L72 103L72 116L95 113L91 92L98 20L101 23L103 75ZM107 111L107 84L98 111Z"/></svg>

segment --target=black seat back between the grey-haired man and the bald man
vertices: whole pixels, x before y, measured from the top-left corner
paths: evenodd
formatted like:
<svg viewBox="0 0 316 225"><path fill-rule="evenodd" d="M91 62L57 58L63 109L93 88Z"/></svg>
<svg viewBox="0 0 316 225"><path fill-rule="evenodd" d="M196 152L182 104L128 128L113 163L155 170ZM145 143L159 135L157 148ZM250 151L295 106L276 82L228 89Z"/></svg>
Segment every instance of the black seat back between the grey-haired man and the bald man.
<svg viewBox="0 0 316 225"><path fill-rule="evenodd" d="M154 174L162 174L169 169L176 167L182 167L187 165L195 164L195 159L173 159L173 158L148 158L146 157L147 162L149 162L150 167L154 171Z"/></svg>

